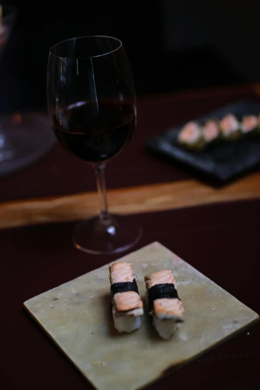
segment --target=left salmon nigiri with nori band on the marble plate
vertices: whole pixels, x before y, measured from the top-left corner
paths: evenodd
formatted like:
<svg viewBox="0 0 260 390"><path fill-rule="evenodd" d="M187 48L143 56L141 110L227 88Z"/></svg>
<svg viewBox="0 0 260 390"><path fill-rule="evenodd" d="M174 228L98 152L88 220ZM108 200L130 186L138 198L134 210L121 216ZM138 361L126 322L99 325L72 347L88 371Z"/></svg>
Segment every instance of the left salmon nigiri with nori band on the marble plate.
<svg viewBox="0 0 260 390"><path fill-rule="evenodd" d="M116 262L109 267L110 308L115 328L119 332L132 332L141 325L141 301L132 264Z"/></svg>

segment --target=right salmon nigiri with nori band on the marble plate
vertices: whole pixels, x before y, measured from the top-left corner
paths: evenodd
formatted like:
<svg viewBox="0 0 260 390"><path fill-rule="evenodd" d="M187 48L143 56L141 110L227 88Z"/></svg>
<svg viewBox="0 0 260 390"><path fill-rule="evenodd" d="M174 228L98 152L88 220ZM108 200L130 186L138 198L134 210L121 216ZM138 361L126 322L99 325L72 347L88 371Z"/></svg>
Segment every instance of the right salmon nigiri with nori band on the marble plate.
<svg viewBox="0 0 260 390"><path fill-rule="evenodd" d="M171 269L144 276L148 311L163 339L169 339L184 321L184 309L175 288Z"/></svg>

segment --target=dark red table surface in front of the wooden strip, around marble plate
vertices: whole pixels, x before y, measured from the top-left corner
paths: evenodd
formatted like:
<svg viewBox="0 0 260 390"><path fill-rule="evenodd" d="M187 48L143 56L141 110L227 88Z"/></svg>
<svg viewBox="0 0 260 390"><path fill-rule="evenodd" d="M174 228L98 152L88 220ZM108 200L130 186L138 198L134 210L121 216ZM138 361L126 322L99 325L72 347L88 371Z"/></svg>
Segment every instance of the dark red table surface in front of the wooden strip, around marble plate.
<svg viewBox="0 0 260 390"><path fill-rule="evenodd" d="M135 249L159 241L260 313L260 200L135 218L144 229ZM117 258L74 249L73 226L0 232L1 389L91 389L22 307L26 299ZM149 389L259 389L259 368L257 324Z"/></svg>

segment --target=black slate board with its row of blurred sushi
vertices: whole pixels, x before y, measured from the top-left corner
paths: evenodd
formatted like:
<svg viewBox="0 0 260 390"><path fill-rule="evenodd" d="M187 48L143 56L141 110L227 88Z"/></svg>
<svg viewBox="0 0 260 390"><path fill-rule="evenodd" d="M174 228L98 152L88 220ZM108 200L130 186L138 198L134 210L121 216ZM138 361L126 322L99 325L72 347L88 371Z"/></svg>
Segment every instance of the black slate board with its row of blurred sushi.
<svg viewBox="0 0 260 390"><path fill-rule="evenodd" d="M145 143L158 156L227 182L260 164L260 102L234 102Z"/></svg>

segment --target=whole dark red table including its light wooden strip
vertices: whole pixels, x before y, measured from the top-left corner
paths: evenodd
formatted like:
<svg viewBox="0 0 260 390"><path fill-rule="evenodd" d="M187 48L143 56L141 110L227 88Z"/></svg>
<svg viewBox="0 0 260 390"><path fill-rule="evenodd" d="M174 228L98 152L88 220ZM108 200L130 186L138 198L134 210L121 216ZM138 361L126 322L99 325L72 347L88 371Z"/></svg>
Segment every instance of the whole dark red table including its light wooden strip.
<svg viewBox="0 0 260 390"><path fill-rule="evenodd" d="M143 148L149 135L226 103L259 100L258 92L247 85L140 100L136 135L109 164L107 182L113 210L134 213L143 226L135 249L161 242L259 313L259 171L214 188ZM58 145L0 179L1 389L91 389L22 303L117 259L86 255L71 244L71 221L96 211L94 188L88 165ZM149 389L259 389L259 367L256 325Z"/></svg>

